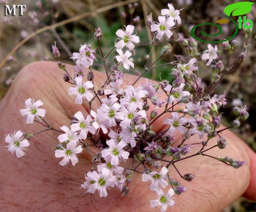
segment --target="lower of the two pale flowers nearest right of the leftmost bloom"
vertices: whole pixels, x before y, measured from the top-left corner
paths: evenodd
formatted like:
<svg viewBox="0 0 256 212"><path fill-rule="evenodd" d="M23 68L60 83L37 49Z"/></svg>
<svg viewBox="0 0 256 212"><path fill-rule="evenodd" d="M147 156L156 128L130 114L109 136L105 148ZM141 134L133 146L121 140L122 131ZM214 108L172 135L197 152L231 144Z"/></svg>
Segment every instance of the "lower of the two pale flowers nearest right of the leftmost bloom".
<svg viewBox="0 0 256 212"><path fill-rule="evenodd" d="M76 154L83 151L82 146L79 145L76 147L76 145L77 142L71 141L67 143L65 148L62 146L62 149L55 150L55 157L64 157L63 160L59 163L60 165L67 165L69 160L71 160L73 166L76 165L76 163L78 162Z"/></svg>

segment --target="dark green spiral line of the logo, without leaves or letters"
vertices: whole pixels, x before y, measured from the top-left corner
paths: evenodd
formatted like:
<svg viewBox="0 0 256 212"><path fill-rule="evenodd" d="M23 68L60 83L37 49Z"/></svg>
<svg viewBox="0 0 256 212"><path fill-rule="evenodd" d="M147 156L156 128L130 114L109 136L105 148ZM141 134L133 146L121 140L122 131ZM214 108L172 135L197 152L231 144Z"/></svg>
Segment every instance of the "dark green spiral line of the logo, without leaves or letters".
<svg viewBox="0 0 256 212"><path fill-rule="evenodd" d="M221 14L219 14L219 15L221 15ZM224 39L224 40L221 40L221 41L206 41L206 40L201 40L201 39L197 38L197 37L194 35L194 29L195 29L196 27L202 26L202 25L214 25L214 26L218 27L218 29L219 29L218 33L216 33L216 34L214 34L214 35L208 35L208 34L204 33L204 29L202 29L202 31L201 31L201 34L202 34L202 35L205 35L205 36L216 36L216 35L219 35L219 34L222 32L221 27L220 27L219 25L212 24L212 23L204 23L204 24L195 25L195 26L191 29L191 31L190 31L192 37L195 38L196 40L201 41L201 42L204 42L204 43L221 43L221 42L230 40L230 39L232 39L233 37L235 37L235 36L237 35L237 33L238 33L238 25L237 25L237 23L236 23L235 21L233 21L230 17L226 16L226 15L222 15L222 16L224 16L224 17L226 17L228 20L232 21L232 22L234 23L234 25L236 26L236 30L235 30L234 34L233 34L231 37L229 37L229 38L227 38L227 39Z"/></svg>

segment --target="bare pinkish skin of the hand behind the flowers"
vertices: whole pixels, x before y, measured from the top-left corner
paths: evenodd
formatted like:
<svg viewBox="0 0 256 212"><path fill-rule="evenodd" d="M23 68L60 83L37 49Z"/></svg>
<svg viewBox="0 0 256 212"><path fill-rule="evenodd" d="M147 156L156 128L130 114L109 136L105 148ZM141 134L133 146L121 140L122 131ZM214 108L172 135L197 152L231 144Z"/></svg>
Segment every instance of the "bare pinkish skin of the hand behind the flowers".
<svg viewBox="0 0 256 212"><path fill-rule="evenodd" d="M67 65L66 69L71 72L72 67ZM29 141L28 151L21 158L7 152L7 148L4 147L7 146L4 141L6 134L14 133L14 130L35 133L44 129L44 126L38 123L23 123L19 110L24 107L24 102L29 97L44 103L41 106L47 110L44 120L56 129L63 125L69 126L72 116L79 110L87 116L88 105L76 105L74 96L68 96L67 89L71 85L63 81L62 73L63 71L53 62L30 64L21 70L1 101L0 211L159 211L158 208L151 208L149 201L157 199L157 196L149 190L149 182L141 181L139 173L134 173L129 184L130 192L126 197L121 197L116 187L111 188L106 198L99 197L98 191L93 195L83 194L86 190L79 188L85 181L85 173L91 171L92 158L84 149L83 154L79 154L76 166L72 166L71 163L64 167L59 165L62 158L54 156L55 146L59 143L58 132L51 130L34 136ZM135 79L136 76L129 76L126 78L129 81L124 81L124 84L132 84ZM104 82L105 74L95 71L96 90ZM98 106L98 103L93 103L92 110L96 111ZM159 109L160 113L162 108ZM155 131L165 127L162 124L163 119L164 117L154 123ZM181 185L187 188L180 196L174 196L176 205L169 211L217 212L243 194L256 200L256 167L253 162L255 153L230 131L224 131L222 136L227 139L227 148L213 148L207 154L244 160L246 165L234 169L206 156L195 156L176 163L182 175L192 173L196 177L192 182L187 182L179 177L173 167L169 169L170 177L179 180ZM180 140L181 136L178 133L175 136L175 144L177 145ZM188 143L200 142L204 138L198 140L198 136L195 135ZM208 146L215 144L216 139L213 139ZM195 153L200 147L201 145L192 145L192 151ZM100 151L93 146L89 148L93 153ZM131 160L128 159L127 163L131 164ZM127 164L123 166L128 167ZM169 187L163 190L166 193L168 189Z"/></svg>

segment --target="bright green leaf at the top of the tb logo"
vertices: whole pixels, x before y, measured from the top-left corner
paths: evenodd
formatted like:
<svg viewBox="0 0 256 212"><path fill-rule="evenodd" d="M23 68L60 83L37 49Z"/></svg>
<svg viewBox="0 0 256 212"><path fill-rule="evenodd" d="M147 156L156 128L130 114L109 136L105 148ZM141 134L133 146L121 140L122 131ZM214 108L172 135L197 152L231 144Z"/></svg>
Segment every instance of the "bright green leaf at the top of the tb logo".
<svg viewBox="0 0 256 212"><path fill-rule="evenodd" d="M232 15L245 15L251 11L251 5L254 3L251 2L237 2L231 5L227 5L224 9L224 13L228 16L231 15L231 12L233 11Z"/></svg>

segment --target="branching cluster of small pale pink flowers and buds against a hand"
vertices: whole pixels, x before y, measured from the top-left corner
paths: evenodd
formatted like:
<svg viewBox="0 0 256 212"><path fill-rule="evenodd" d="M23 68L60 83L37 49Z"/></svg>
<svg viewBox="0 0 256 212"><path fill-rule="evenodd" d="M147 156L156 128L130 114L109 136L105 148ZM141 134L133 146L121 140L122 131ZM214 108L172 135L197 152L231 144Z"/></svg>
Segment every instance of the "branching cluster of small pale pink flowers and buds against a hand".
<svg viewBox="0 0 256 212"><path fill-rule="evenodd" d="M167 35L170 38L173 35L171 31L175 24L180 24L180 10L175 10L172 4L168 4L169 9L161 10L161 16L158 17L159 22L154 22L152 15L148 16L147 25L150 27L153 41L157 38L160 40ZM171 199L174 194L180 195L186 191L179 181L169 177L169 167L174 163L190 158L186 157L187 153L193 151L192 145L187 144L187 140L191 136L197 136L198 139L207 137L206 141L200 140L202 147L198 154L209 156L216 160L231 166L239 168L245 164L244 161L235 159L217 158L205 154L211 148L218 147L223 149L227 147L224 137L220 136L219 130L222 113L219 113L219 107L225 106L227 100L225 93L223 95L214 94L211 86L205 89L202 79L198 75L199 60L208 60L206 65L215 63L211 66L212 82L217 84L220 79L221 71L224 69L222 61L217 59L217 45L213 47L208 45L208 49L201 55L197 49L197 42L193 38L186 39L184 35L179 34L178 42L185 47L185 51L189 54L186 58L180 56L174 63L166 65L175 65L170 69L170 74L174 76L173 82L161 80L159 83L150 82L150 80L141 80L142 82L135 86L140 77L153 67L159 58L171 53L171 45L166 45L158 59L151 65L149 58L145 64L145 70L138 76L137 80L129 85L123 84L123 78L127 77L123 73L123 68L129 70L134 68L134 63L128 58L134 50L134 43L139 43L139 36L134 34L134 26L125 26L125 31L117 30L117 38L114 48L104 57L100 48L99 39L102 37L100 28L96 29L95 38L98 41L102 57L97 55L97 50L93 49L90 44L81 45L79 53L73 53L72 59L76 60L74 67L75 75L70 76L65 70L65 65L60 61L60 53L56 45L52 46L53 55L59 60L58 66L63 69L64 81L72 84L68 88L68 95L75 96L76 104L87 103L89 111L86 116L77 111L70 126L61 126L59 129L53 128L43 117L46 114L45 109L39 108L43 103L38 100L34 102L33 98L25 101L25 109L21 109L20 113L25 116L24 120L27 124L34 122L43 123L46 129L40 131L42 133L47 130L55 130L60 133L58 136L57 146L55 148L55 157L63 158L59 164L68 165L71 161L75 166L78 162L79 154L85 149L92 156L93 168L85 175L85 182L81 185L86 189L87 193L99 192L100 197L106 197L110 187L117 187L122 196L126 196L129 192L128 184L132 182L133 173L142 174L142 182L150 182L149 189L154 191L157 199L150 200L151 207L161 207L161 211L167 210L168 206L174 206L175 202ZM160 43L160 41L159 41ZM127 50L123 52L123 48ZM112 62L112 66L107 68L105 60L107 56L116 48L118 55L114 56L118 64ZM115 52L115 51L114 51ZM115 52L115 53L116 53ZM95 84L94 73L92 70L94 59L102 60L106 71L106 82L99 86ZM110 62L110 63L111 63ZM159 66L158 66L159 67ZM86 69L83 69L86 68ZM110 70L109 70L110 69ZM84 76L87 72L87 80ZM224 76L224 75L223 75ZM133 83L133 84L132 84ZM187 88L190 88L190 91ZM98 101L99 107L95 110L91 108L93 101ZM151 106L149 106L151 105ZM159 109L161 108L161 109ZM234 107L233 112L236 119L233 122L234 127L238 127L240 122L245 121L249 114L247 107ZM155 131L156 122L159 117L163 118L161 131ZM37 119L40 120L37 121ZM229 128L229 127L227 127ZM6 135L5 141L9 144L8 151L16 152L17 157L23 156L25 147L29 146L28 140L34 135L21 131L14 134ZM101 139L101 135L105 134L106 140ZM182 141L177 146L172 146L175 139L174 135L180 135ZM208 141L214 137L216 139L215 146L204 149ZM95 139L97 138L97 139ZM99 147L99 152L95 156L87 147L85 139L90 140L90 145ZM199 144L200 144L199 142ZM196 143L198 144L198 143ZM122 167L129 158L133 158L131 167ZM164 158L164 159L163 159ZM94 166L97 164L97 171ZM143 167L143 168L141 168ZM174 166L175 167L175 166ZM159 169L161 169L159 171ZM182 179L192 181L195 175L187 173L181 175L175 167ZM125 174L123 173L125 171ZM126 184L126 185L125 185ZM164 194L162 188L169 190Z"/></svg>

